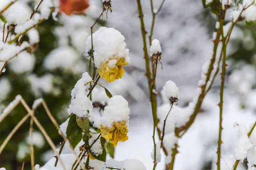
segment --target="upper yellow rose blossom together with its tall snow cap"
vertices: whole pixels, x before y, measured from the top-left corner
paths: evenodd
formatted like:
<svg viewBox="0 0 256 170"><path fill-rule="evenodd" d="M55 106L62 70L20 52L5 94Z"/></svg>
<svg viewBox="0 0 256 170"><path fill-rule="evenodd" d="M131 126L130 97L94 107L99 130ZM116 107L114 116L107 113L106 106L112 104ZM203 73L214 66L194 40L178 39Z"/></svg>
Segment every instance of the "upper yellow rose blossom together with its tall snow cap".
<svg viewBox="0 0 256 170"><path fill-rule="evenodd" d="M105 28L93 39L95 65L99 75L108 82L122 78L122 65L130 63L124 40L125 37L114 28Z"/></svg>

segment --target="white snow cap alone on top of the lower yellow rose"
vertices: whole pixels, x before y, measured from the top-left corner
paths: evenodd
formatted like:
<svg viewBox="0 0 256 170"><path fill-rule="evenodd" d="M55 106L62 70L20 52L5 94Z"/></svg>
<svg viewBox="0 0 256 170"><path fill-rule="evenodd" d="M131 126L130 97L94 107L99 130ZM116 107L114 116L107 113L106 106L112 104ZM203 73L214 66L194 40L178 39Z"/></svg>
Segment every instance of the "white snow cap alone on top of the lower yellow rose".
<svg viewBox="0 0 256 170"><path fill-rule="evenodd" d="M126 121L128 127L129 123L128 102L120 95L113 96L108 101L108 106L105 107L103 116L101 118L101 125L105 127L112 127L113 122Z"/></svg>

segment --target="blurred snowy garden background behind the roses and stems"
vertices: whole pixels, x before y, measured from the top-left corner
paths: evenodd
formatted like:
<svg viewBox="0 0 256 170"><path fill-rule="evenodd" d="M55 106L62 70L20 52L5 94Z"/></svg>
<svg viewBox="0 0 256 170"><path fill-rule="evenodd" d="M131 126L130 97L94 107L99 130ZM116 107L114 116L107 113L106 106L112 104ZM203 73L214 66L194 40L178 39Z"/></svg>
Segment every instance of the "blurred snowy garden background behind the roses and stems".
<svg viewBox="0 0 256 170"><path fill-rule="evenodd" d="M150 1L142 0L146 30L151 26ZM0 0L0 8L4 0ZM7 20L15 14L17 24L29 19L39 0L17 0L5 13ZM154 0L155 8L160 0ZM40 11L41 7L39 7ZM131 64L125 66L122 79L111 83L100 79L100 84L108 88L113 95L120 94L127 99L131 109L129 140L116 147L115 159L138 159L147 169L153 167L151 151L153 148L153 121L148 99L143 43L140 32L137 3L135 0L112 0L112 13L108 13L94 28L113 27L120 31L129 48ZM61 124L67 119L70 92L81 74L87 71L89 57L84 54L85 41L90 35L90 26L102 11L102 0L90 0L90 7L84 15L58 14L58 21L50 17L38 26L40 42L35 54L23 52L6 66L6 72L0 76L0 113L5 106L21 94L31 106L39 97L45 99L55 118ZM227 20L230 19L227 14ZM0 28L3 23L0 22ZM160 91L167 80L174 81L180 92L178 106L184 107L196 94L201 67L212 55L212 32L215 29L215 16L204 10L201 0L166 0L156 17L153 39L160 40L162 48L163 70L158 67L156 87L159 113L168 112ZM2 40L0 34L0 40ZM26 38L26 37L25 37ZM255 26L238 24L228 46L228 71L224 95L224 130L222 146L222 166L233 164L234 148L237 142L237 127L234 123L249 125L256 120L256 31ZM179 141L179 153L175 170L214 170L217 159L218 111L220 77L216 78L212 91L201 108L194 125ZM105 93L96 88L95 93ZM96 99L95 99L96 100ZM0 143L24 115L21 106L0 125ZM36 112L38 119L46 128L52 140L58 144L61 137L43 109ZM52 156L50 147L35 128L35 162L44 164ZM22 161L30 166L29 157L29 121L18 130L0 155L0 167L7 170L20 168ZM163 161L157 170L164 167ZM27 163L26 163L27 162ZM246 166L239 165L243 170Z"/></svg>

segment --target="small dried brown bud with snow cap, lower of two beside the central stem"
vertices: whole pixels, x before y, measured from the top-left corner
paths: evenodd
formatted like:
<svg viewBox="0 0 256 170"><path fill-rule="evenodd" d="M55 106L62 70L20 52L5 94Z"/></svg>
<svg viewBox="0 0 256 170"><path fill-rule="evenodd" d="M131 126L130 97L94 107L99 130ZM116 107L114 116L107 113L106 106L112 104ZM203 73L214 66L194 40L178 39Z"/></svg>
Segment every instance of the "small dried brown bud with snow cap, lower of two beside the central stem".
<svg viewBox="0 0 256 170"><path fill-rule="evenodd" d="M177 102L179 99L179 89L177 88L177 85L175 82L168 80L163 86L163 91L167 99L169 99L170 102Z"/></svg>

